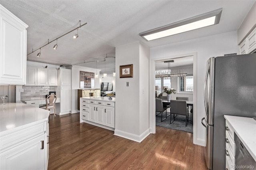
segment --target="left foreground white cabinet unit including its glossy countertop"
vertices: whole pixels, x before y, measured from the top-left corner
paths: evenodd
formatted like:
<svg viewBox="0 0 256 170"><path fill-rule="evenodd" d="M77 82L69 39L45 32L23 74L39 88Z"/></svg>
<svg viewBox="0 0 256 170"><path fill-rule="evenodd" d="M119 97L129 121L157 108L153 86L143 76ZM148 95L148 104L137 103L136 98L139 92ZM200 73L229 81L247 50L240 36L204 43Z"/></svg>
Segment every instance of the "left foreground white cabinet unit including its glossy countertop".
<svg viewBox="0 0 256 170"><path fill-rule="evenodd" d="M47 169L49 114L24 103L0 105L0 170Z"/></svg>

